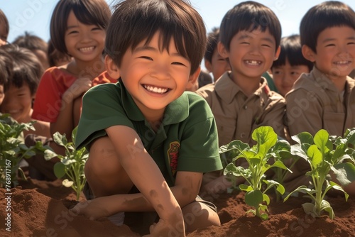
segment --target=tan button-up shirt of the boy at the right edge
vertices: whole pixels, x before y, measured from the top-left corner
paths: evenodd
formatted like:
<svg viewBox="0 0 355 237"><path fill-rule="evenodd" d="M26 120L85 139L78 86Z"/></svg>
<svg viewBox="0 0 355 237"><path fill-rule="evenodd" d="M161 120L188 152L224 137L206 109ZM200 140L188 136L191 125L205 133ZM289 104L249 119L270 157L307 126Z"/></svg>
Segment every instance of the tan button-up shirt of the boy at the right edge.
<svg viewBox="0 0 355 237"><path fill-rule="evenodd" d="M302 74L286 94L286 125L290 136L307 131L312 136L320 129L330 135L344 136L355 126L355 80L346 77L344 92L320 70Z"/></svg>

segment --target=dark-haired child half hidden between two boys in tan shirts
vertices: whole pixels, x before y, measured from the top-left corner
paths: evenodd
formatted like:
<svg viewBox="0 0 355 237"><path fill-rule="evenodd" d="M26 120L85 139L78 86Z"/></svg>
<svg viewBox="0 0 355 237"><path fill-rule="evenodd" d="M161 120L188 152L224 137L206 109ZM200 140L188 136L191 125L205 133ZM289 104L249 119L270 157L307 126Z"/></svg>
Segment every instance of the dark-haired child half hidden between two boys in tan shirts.
<svg viewBox="0 0 355 237"><path fill-rule="evenodd" d="M312 70L313 63L302 55L300 35L283 37L280 47L280 55L273 62L271 71L278 93L285 97L298 77Z"/></svg>

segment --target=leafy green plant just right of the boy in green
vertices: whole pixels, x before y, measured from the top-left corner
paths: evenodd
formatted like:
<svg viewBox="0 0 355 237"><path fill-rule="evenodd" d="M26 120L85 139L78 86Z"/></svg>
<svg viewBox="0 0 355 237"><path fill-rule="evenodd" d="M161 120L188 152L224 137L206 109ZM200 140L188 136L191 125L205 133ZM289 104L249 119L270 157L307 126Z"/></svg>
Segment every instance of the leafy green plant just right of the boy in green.
<svg viewBox="0 0 355 237"><path fill-rule="evenodd" d="M266 172L273 167L283 170L288 168L280 160L282 153L290 152L290 144L286 140L278 140L277 134L270 126L261 126L252 133L252 138L257 142L253 147L241 142L241 140L231 141L228 145L219 148L219 153L229 153L234 156L233 160L245 158L249 167L244 168L236 166L234 162L229 163L224 169L224 175L232 174L237 177L244 177L247 184L240 184L239 188L246 192L245 202L255 208L247 211L260 217L263 220L268 219L268 208L270 198L266 194L268 189L276 187L276 190L283 194L285 188L282 184L274 180L266 180ZM271 165L272 158L279 158ZM290 170L289 170L290 171Z"/></svg>

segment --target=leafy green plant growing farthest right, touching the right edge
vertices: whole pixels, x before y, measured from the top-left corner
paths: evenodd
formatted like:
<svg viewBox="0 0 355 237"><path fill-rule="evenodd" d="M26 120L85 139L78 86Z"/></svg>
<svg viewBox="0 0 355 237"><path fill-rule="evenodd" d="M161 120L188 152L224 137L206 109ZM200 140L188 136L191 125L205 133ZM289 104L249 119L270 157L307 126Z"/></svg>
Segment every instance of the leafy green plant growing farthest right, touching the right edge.
<svg viewBox="0 0 355 237"><path fill-rule="evenodd" d="M307 214L320 216L322 211L327 211L329 217L334 219L334 211L329 202L324 198L329 189L344 192L342 187L330 180L329 172L332 170L337 180L342 185L350 184L355 180L354 147L355 131L347 130L342 137L329 137L329 133L321 129L315 134L303 132L292 137L297 143L291 148L291 153L305 159L310 164L310 171L305 175L312 179L313 188L302 185L297 187L285 197L284 202L294 192L307 194L312 203L302 204ZM349 146L349 144L351 144ZM350 161L350 162L347 162ZM347 201L349 195L344 192Z"/></svg>

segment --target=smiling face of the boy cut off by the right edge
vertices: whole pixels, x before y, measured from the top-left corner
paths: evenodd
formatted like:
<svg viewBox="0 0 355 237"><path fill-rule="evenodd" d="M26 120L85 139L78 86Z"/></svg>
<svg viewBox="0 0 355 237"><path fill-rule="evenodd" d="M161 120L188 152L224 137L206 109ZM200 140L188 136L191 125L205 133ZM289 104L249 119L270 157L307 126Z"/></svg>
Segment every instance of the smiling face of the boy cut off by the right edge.
<svg viewBox="0 0 355 237"><path fill-rule="evenodd" d="M344 79L355 68L355 30L349 26L326 28L318 35L316 51L302 48L318 70L332 79Z"/></svg>

